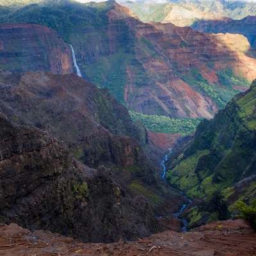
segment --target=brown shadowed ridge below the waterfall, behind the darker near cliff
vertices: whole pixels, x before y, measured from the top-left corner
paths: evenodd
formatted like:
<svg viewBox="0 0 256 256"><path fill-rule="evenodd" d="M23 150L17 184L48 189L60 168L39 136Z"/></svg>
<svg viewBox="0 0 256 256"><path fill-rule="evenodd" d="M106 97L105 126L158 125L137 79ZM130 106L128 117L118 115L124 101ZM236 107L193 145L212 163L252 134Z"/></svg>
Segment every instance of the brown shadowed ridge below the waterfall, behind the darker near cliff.
<svg viewBox="0 0 256 256"><path fill-rule="evenodd" d="M8 118L44 129L92 168L111 168L129 195L143 191L154 209L166 200L170 211L179 207L182 196L170 190L173 197L169 192L164 197L156 166L141 147L147 144L147 132L132 123L108 90L75 74L1 72L0 77L0 109Z"/></svg>

